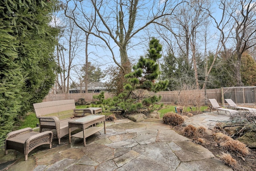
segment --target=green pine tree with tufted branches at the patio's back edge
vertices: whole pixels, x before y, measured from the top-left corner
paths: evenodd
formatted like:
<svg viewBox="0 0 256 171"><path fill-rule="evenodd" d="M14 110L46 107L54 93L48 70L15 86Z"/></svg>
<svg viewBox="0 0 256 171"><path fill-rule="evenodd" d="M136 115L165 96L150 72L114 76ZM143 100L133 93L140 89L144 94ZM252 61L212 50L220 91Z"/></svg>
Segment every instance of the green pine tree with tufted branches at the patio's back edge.
<svg viewBox="0 0 256 171"><path fill-rule="evenodd" d="M159 81L159 66L156 61L161 58L162 45L159 40L152 38L149 43L148 54L141 56L138 63L133 66L133 72L126 74L128 84L124 85L123 93L105 101L110 106L115 106L123 112L132 113L138 109L146 109L160 101L161 97L149 95L148 91L158 92L166 89L168 80Z"/></svg>

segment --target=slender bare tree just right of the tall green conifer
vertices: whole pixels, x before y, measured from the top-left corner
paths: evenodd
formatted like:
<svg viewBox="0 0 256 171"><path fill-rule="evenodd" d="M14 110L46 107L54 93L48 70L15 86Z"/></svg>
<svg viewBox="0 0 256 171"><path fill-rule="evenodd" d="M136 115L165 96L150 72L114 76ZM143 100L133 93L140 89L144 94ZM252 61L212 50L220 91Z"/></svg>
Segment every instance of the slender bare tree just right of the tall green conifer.
<svg viewBox="0 0 256 171"><path fill-rule="evenodd" d="M56 85L58 85L60 93L68 93L73 60L77 58L77 54L81 50L80 46L83 42L83 35L76 28L74 22L64 18L61 12L56 12L53 19L54 26L62 28L58 34L58 46L56 47L56 60L58 64Z"/></svg>

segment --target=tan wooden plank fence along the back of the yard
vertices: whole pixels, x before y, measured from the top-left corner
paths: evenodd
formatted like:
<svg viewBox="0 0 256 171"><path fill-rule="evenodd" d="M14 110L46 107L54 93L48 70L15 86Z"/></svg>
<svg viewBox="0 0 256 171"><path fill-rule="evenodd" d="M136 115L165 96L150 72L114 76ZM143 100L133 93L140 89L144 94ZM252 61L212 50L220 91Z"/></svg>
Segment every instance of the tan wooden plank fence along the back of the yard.
<svg viewBox="0 0 256 171"><path fill-rule="evenodd" d="M207 89L206 90L206 101L207 99L216 99L218 103L223 103L222 99L232 99L235 103L256 103L256 86L255 87L223 87L221 89ZM162 99L160 103L177 103L178 96L182 91L160 91L158 93L151 93L155 95L161 95ZM204 90L188 90L188 95L200 93L201 97L204 97ZM74 99L78 101L83 98L85 101L95 101L93 95L100 93L70 93L70 94L49 94L46 95L43 101L56 101ZM104 94L105 99L113 97L112 94L107 92Z"/></svg>

